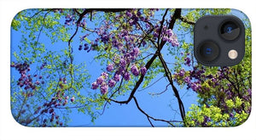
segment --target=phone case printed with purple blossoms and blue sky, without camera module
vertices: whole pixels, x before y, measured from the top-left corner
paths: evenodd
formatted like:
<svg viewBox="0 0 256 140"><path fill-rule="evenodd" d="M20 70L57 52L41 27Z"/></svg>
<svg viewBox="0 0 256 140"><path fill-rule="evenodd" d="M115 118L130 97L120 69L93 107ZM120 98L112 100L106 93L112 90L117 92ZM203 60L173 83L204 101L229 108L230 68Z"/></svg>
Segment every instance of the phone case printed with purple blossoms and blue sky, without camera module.
<svg viewBox="0 0 256 140"><path fill-rule="evenodd" d="M194 25L235 15L245 55L198 64ZM31 8L11 25L11 112L22 126L239 126L252 99L251 25L227 8Z"/></svg>

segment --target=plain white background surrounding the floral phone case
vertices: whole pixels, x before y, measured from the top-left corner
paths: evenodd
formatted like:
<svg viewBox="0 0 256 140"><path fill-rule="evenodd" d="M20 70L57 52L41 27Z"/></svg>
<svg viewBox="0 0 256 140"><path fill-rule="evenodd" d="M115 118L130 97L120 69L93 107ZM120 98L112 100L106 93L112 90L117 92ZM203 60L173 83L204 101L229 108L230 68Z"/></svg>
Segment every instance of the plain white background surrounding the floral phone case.
<svg viewBox="0 0 256 140"><path fill-rule="evenodd" d="M255 1L254 1L255 2ZM256 98L249 119L231 128L30 128L20 126L10 112L10 25L25 8L237 8L247 14L253 30L253 68L256 63L256 4L253 0L0 0L0 139L175 139L255 140ZM256 70L253 69L255 85ZM253 95L254 92L253 87Z"/></svg>

